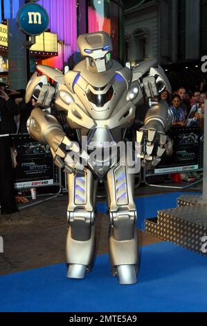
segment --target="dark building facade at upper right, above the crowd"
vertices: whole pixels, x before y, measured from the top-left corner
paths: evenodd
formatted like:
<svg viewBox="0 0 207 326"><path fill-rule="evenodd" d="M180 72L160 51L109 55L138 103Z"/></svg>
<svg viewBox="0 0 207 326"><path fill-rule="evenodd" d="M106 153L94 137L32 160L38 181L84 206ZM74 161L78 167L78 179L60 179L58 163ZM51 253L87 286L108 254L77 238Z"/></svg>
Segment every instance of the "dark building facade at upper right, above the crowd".
<svg viewBox="0 0 207 326"><path fill-rule="evenodd" d="M175 89L199 87L207 54L207 0L141 0L125 8L125 59L156 58Z"/></svg>

